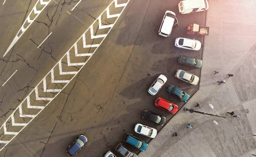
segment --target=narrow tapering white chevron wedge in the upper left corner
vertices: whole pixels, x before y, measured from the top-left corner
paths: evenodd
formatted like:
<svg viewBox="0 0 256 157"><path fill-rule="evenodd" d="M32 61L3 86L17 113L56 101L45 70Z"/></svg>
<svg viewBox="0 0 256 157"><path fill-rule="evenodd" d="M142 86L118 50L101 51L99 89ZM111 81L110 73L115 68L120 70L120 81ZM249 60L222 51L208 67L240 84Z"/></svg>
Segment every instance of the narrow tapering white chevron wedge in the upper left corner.
<svg viewBox="0 0 256 157"><path fill-rule="evenodd" d="M29 28L29 26L34 22L34 20L38 17L38 15L40 15L40 13L44 10L44 8L49 4L51 0L45 1L45 0L38 0L35 3L35 6L33 7L33 9L31 10L31 12L29 13L28 17L26 18L26 20L24 21L24 23L22 24L20 30L18 31L17 35L14 37L12 43L9 45L8 49L6 50L6 52L3 54L3 57L10 51L10 49L12 49L12 47L15 45L15 43L19 40L19 38L23 35L23 33ZM37 10L36 6L38 4L38 2L40 2L40 4L43 7L43 9L41 10ZM31 13L34 12L34 14L36 14L36 16L34 17L34 19L30 19L30 15ZM25 24L29 23L29 25L24 28ZM21 34L20 34L21 32ZM20 35L19 35L20 34Z"/></svg>

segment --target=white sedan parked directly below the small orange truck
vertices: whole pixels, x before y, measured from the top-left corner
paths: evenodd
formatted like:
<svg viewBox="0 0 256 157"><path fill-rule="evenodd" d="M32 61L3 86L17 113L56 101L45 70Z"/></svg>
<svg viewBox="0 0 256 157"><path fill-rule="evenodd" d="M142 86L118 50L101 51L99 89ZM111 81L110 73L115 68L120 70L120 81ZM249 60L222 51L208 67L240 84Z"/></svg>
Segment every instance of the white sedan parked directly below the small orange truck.
<svg viewBox="0 0 256 157"><path fill-rule="evenodd" d="M198 51L199 49L201 49L201 42L195 39L176 38L175 46L178 48Z"/></svg>

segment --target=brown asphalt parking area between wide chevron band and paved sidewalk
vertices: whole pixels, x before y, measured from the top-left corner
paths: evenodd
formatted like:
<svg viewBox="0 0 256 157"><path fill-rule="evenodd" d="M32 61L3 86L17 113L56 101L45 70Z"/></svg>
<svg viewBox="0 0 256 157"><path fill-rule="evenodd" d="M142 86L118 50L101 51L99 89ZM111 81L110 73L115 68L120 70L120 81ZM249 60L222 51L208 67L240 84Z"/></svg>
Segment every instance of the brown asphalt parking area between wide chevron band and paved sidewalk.
<svg viewBox="0 0 256 157"><path fill-rule="evenodd" d="M177 6L179 2L131 0L128 3L87 66L19 135L36 150L35 154L41 157L67 156L67 146L79 134L85 134L88 143L77 157L100 157L109 150L121 157L114 148L122 142L126 133L134 134L145 142L151 140L134 132L136 123L160 131L163 126L142 119L141 112L150 110L159 113L168 122L174 115L157 108L154 100L161 97L181 108L184 103L167 93L168 84L179 87L190 97L198 90L198 85L175 78L176 70L186 70L198 77L201 75L200 69L178 64L177 61L180 55L202 59L204 38L186 35L186 26L193 23L204 26L207 12L181 15ZM172 30L170 37L164 38L157 32L166 10L176 13L179 26ZM88 14L98 12L90 9ZM78 11L78 14L82 16L83 12ZM179 49L174 45L178 37L201 41L202 48L199 51ZM156 96L151 96L147 92L148 87L160 74L167 77L167 83ZM125 145L139 153L131 145ZM8 156L26 154L16 141L10 143L7 150ZM0 152L0 156L4 153Z"/></svg>

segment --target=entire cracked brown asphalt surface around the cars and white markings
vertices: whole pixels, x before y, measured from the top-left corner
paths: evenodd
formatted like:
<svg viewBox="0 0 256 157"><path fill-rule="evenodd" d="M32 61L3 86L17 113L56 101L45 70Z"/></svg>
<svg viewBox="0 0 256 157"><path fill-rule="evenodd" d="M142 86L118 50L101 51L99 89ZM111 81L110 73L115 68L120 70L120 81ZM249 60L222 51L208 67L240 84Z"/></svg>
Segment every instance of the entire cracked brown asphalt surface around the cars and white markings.
<svg viewBox="0 0 256 157"><path fill-rule="evenodd" d="M118 0L119 3L125 1L127 2ZM88 143L79 151L77 157L101 157L109 150L120 157L114 148L118 142L124 143L122 139L126 133L149 142L150 138L133 131L134 125L141 123L156 128L157 131L160 131L162 126L142 119L141 112L150 110L160 113L169 121L173 114L155 107L154 100L162 97L176 103L179 108L184 103L166 92L168 84L180 87L190 96L198 90L198 86L180 81L174 75L177 69L182 69L200 77L200 69L178 64L177 60L180 55L201 59L203 47L199 51L178 49L174 42L178 37L195 38L203 45L204 38L201 36L186 35L186 26L192 23L205 25L207 12L180 15L177 6L179 1L130 0L90 61L67 87L0 151L0 157L67 157L68 145L79 134L85 134ZM4 5L0 5L2 125L112 1L82 0L75 9L73 7L78 0L55 2L49 3L4 57L3 54L36 1L6 0ZM42 9L42 6L38 8ZM180 23L168 38L157 33L166 10L175 12ZM111 22L106 20L102 23L107 25ZM44 41L51 32L49 38ZM37 48L42 41L44 43ZM160 74L168 78L167 84L156 96L151 96L147 92L148 87ZM35 100L34 97L31 99ZM42 101L42 104L45 102ZM12 126L10 122L11 120L8 125L6 123L7 129L19 129L20 126ZM28 122L27 118L24 118L24 122ZM0 131L4 131L3 127ZM172 134L170 133L170 136ZM11 139L13 135L1 134L0 137L1 140ZM131 145L125 145L139 153Z"/></svg>

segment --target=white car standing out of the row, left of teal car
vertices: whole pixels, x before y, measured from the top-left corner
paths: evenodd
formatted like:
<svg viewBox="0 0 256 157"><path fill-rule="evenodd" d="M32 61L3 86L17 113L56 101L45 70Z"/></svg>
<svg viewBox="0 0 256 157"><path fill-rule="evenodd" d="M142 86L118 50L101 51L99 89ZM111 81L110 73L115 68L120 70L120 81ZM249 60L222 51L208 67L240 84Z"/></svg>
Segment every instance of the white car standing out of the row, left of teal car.
<svg viewBox="0 0 256 157"><path fill-rule="evenodd" d="M151 84L151 86L148 88L148 93L152 96L156 95L157 92L163 87L163 84L165 84L167 81L166 76L160 75L158 78Z"/></svg>

